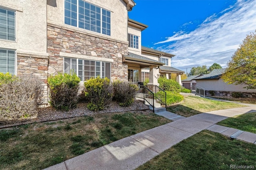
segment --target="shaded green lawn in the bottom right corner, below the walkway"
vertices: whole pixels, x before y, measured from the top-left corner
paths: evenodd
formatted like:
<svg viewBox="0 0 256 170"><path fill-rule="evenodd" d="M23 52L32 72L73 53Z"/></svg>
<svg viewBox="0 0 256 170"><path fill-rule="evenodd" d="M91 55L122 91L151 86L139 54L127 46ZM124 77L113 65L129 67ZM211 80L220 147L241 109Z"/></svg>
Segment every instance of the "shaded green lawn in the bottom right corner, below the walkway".
<svg viewBox="0 0 256 170"><path fill-rule="evenodd" d="M230 165L256 167L256 147L203 130L162 152L137 170L228 170Z"/></svg>

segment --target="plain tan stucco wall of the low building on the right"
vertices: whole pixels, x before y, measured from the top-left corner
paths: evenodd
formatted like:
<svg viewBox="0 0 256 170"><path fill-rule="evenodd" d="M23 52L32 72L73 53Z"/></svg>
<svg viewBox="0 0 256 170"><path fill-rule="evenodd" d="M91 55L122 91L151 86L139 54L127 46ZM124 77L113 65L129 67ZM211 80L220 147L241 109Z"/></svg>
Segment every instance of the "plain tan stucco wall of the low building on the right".
<svg viewBox="0 0 256 170"><path fill-rule="evenodd" d="M213 91L238 91L238 92L256 92L255 89L245 89L245 85L228 85L223 79L209 79L209 80L196 80L196 85L204 88L205 90Z"/></svg>

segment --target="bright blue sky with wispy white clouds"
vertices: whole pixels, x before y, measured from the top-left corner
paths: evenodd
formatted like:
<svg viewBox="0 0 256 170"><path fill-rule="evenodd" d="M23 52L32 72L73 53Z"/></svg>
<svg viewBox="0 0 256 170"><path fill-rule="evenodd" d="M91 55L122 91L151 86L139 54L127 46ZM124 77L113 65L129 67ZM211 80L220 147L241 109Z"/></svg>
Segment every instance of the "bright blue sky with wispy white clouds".
<svg viewBox="0 0 256 170"><path fill-rule="evenodd" d="M128 15L148 25L142 45L176 55L172 67L223 68L256 30L256 0L134 0Z"/></svg>

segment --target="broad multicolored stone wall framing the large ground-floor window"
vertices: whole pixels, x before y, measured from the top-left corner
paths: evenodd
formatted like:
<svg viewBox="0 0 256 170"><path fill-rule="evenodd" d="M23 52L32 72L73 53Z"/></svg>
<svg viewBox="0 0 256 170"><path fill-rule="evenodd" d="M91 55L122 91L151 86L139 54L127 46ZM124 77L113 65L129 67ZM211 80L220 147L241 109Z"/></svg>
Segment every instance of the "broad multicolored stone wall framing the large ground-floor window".
<svg viewBox="0 0 256 170"><path fill-rule="evenodd" d="M63 72L63 57L60 56L60 52L64 52L113 59L111 81L128 80L128 65L122 62L122 55L128 54L128 42L86 34L48 23L47 52L49 74Z"/></svg>

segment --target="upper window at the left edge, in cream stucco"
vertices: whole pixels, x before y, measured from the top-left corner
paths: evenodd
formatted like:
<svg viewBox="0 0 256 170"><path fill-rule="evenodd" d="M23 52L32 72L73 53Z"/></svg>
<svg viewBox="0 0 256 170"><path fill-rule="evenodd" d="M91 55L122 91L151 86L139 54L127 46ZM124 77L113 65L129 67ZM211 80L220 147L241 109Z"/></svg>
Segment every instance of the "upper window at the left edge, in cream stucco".
<svg viewBox="0 0 256 170"><path fill-rule="evenodd" d="M15 12L0 8L0 39L15 41Z"/></svg>

